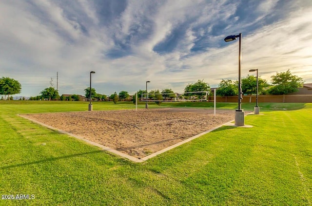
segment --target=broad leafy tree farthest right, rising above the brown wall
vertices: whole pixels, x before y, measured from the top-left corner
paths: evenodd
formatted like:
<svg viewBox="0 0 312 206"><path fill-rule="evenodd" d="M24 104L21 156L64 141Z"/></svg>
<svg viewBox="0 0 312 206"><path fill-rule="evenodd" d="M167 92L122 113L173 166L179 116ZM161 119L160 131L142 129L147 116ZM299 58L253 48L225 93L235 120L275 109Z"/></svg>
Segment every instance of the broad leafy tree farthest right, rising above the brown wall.
<svg viewBox="0 0 312 206"><path fill-rule="evenodd" d="M296 75L292 75L290 70L287 72L276 72L276 75L272 75L273 87L269 89L269 94L290 94L297 92L299 87L303 86L303 79Z"/></svg>

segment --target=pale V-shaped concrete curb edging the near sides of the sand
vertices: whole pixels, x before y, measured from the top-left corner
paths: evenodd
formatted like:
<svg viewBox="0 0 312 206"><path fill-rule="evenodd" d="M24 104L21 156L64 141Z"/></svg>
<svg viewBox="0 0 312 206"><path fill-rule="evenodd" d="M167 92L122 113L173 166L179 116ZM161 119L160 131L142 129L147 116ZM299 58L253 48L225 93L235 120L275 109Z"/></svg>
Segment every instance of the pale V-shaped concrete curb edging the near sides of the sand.
<svg viewBox="0 0 312 206"><path fill-rule="evenodd" d="M37 123L37 124L39 124L39 125L41 125L41 126L44 126L44 127L48 128L48 129L50 129L50 130L59 131L59 132L62 133L62 134L67 134L67 135L69 135L69 136L75 137L75 138L80 139L80 140L82 140L82 141L84 141L84 142L87 142L87 143L89 143L89 144L91 144L91 145L97 146L97 147L99 147L99 148L101 148L101 149L103 149L103 150L106 150L106 151L109 151L109 152L111 152L111 153L117 154L118 156L121 156L121 157L123 157L123 158L126 158L126 159L128 159L128 160L131 160L131 161L137 162L137 163L139 163L139 162L144 162L144 161L146 161L146 160L148 160L148 159L150 159L150 158L152 158L152 157L157 156L158 154L164 153L164 152L166 152L166 151L168 151L168 150L172 150L172 149L174 149L174 148L176 148L176 147L178 147L178 146L180 146L180 145L183 145L184 143L190 142L190 141L192 141L193 139L196 139L197 137L200 137L200 136L202 136L202 135L204 135L204 134L207 134L207 133L209 133L209 132L211 132L211 131L214 131L214 130L216 130L216 129L222 127L222 126L232 126L233 124L231 124L231 122L234 121L234 120L231 120L231 121L229 121L229 122L227 122L227 123L224 123L224 124L222 124L222 125L219 125L219 126L213 128L213 129L210 129L210 130L208 130L208 131L203 131L203 132L201 132L201 133L199 133L199 134L196 134L196 135L193 136L193 137L190 137L190 138L188 138L188 139L186 139L186 140L183 140L183 141L181 141L181 142L178 142L178 143L176 143L175 145L172 145L172 146L169 146L169 147L167 147L167 148L165 148L165 149L156 151L156 152L153 153L153 154L150 154L150 155L148 155L148 156L145 156L145 157L139 159L139 158L130 156L130 155L128 155L128 154L122 153L122 152L120 152L120 151L117 151L117 150L114 150L114 149L105 147L105 146L103 146L103 145L100 145L100 144L95 143L95 142L93 142L93 141L91 141L91 140L85 139L84 137L78 136L78 135L76 135L76 134L72 134L72 133L69 133L69 132L67 132L67 131L59 130L58 128L55 128L55 127L52 127L52 126L43 124L43 123L41 123L41 122L39 122L39 121L37 121L37 120L34 120L34 119L29 118L29 117L23 116L22 114L18 114L18 116L23 117L23 118L25 118L25 119L28 119L28 120L30 120L30 121L32 121L32 122L35 122L35 123Z"/></svg>

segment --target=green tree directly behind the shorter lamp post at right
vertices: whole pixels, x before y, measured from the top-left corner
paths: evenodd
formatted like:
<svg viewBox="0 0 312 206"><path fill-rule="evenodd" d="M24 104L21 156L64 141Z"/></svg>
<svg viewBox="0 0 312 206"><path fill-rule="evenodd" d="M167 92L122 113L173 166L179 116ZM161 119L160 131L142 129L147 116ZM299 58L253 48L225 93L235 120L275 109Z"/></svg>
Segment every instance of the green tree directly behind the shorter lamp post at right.
<svg viewBox="0 0 312 206"><path fill-rule="evenodd" d="M258 77L258 93L262 94L264 89L268 87L267 80ZM243 94L256 94L257 93L257 77L254 75L247 75L242 78L242 93Z"/></svg>

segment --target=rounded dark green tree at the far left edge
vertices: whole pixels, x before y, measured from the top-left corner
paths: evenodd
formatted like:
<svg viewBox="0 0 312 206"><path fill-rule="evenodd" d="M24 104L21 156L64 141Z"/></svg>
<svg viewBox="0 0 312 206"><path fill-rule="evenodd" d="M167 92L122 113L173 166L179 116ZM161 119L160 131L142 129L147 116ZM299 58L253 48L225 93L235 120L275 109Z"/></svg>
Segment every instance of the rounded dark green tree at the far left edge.
<svg viewBox="0 0 312 206"><path fill-rule="evenodd" d="M4 99L8 95L8 99L11 99L10 94L20 94L21 85L18 80L9 77L0 78L0 94L4 94Z"/></svg>

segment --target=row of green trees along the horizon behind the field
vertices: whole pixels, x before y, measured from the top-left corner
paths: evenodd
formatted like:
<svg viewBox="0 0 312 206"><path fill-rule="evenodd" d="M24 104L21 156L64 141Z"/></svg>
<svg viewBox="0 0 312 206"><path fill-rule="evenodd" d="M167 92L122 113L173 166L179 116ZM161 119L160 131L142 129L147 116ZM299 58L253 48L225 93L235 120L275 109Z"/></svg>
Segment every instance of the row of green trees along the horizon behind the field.
<svg viewBox="0 0 312 206"><path fill-rule="evenodd" d="M290 70L286 72L276 72L276 75L271 76L271 84L267 82L267 80L258 77L258 94L290 94L298 91L297 88L303 86L303 79L296 75L292 75ZM254 75L247 75L241 79L241 87L243 94L256 94L256 77ZM209 91L210 86L209 83L204 82L204 80L197 80L195 83L190 83L184 88L184 96L200 96L204 94L192 93L192 92L201 92L201 91ZM13 99L13 94L19 94L21 91L21 84L18 80L9 77L0 78L0 94L4 95L1 99ZM90 88L86 88L85 97L90 97ZM146 90L137 91L137 96L140 98L142 94L146 94ZM162 93L162 95L160 94ZM59 96L59 92L53 88L45 88L40 92L41 95L36 97L30 97L30 100L43 100L43 99L56 99L56 100L76 100L79 101L80 97L78 94L72 94L70 96ZM231 79L222 79L218 84L218 89L216 91L217 95L220 96L235 96L238 94L238 81L233 81ZM10 96L11 95L11 96ZM106 99L111 99L114 103L117 101L127 101L129 100L129 93L127 91L120 91L118 94L115 92L109 96L105 94L98 94L95 88L91 89L91 98L97 101L104 101ZM160 100L166 100L168 98L175 98L174 91L170 88L160 90L152 90L148 93L145 98L155 99L160 102ZM133 102L135 103L135 96L133 97ZM160 103L157 103L160 104Z"/></svg>

